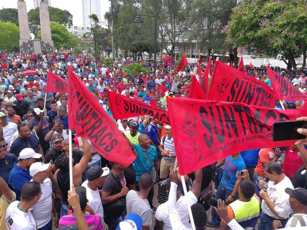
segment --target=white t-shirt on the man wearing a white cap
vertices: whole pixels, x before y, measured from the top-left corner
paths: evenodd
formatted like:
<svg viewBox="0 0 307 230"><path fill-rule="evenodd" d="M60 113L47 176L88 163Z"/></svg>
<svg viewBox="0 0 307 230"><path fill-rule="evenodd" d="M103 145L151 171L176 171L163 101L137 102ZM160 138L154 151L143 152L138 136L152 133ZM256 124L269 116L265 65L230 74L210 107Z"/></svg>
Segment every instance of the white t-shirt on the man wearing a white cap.
<svg viewBox="0 0 307 230"><path fill-rule="evenodd" d="M33 181L33 180L30 180ZM42 228L51 219L52 213L52 183L49 178L46 178L41 184L41 198L37 203L29 209L33 210L33 217L36 222L37 228Z"/></svg>

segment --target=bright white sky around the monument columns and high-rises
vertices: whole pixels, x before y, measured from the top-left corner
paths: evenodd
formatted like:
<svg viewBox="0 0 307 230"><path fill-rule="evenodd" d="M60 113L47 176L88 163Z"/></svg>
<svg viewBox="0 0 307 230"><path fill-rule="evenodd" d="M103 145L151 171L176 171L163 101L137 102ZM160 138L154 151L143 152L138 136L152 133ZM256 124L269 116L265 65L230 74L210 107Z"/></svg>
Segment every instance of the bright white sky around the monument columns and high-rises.
<svg viewBox="0 0 307 230"><path fill-rule="evenodd" d="M33 0L25 0L27 11L34 8ZM51 0L51 6L62 10L68 10L73 16L74 26L83 26L82 0ZM100 17L104 21L104 14L109 10L110 2L100 0ZM0 1L0 8L17 8L17 0ZM104 25L103 25L104 26ZM104 26L106 27L106 26Z"/></svg>

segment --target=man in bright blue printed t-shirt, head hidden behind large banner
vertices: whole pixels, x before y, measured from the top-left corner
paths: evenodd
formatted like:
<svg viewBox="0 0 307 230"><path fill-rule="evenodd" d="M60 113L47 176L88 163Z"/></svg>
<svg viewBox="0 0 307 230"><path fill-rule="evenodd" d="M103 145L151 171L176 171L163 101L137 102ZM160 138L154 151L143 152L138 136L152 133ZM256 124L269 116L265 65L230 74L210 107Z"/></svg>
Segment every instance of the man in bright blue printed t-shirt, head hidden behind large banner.
<svg viewBox="0 0 307 230"><path fill-rule="evenodd" d="M236 199L241 180L237 180L235 174L245 168L245 163L239 153L235 153L225 159L224 173L221 183L217 188L215 199L225 200L228 204ZM212 219L207 221L207 225L219 228L220 223L221 218L212 209Z"/></svg>

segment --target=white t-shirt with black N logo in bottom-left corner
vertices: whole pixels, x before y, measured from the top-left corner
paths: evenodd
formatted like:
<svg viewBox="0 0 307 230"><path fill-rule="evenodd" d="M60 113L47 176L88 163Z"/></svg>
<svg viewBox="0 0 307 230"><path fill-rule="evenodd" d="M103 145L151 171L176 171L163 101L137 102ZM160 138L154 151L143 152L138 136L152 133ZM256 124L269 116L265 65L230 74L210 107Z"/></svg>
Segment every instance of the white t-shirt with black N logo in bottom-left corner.
<svg viewBox="0 0 307 230"><path fill-rule="evenodd" d="M36 230L35 220L32 213L22 212L17 208L19 201L14 201L6 209L5 223L9 230Z"/></svg>

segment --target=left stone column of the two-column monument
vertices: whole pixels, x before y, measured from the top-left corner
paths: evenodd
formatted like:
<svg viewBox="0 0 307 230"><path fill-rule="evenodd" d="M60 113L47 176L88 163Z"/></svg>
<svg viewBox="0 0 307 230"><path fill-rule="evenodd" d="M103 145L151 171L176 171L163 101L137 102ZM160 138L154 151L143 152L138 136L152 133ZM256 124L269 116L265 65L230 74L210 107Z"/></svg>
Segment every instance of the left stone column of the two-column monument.
<svg viewBox="0 0 307 230"><path fill-rule="evenodd" d="M18 10L19 34L20 34L20 40L19 40L20 52L21 53L33 52L33 45L29 31L27 6L25 1L18 0L17 10Z"/></svg>

